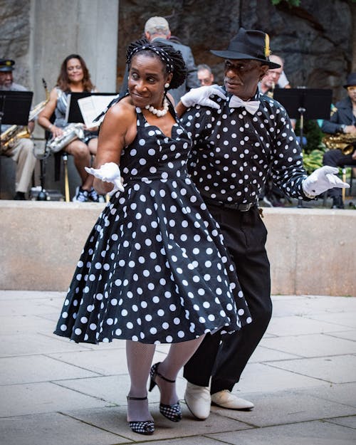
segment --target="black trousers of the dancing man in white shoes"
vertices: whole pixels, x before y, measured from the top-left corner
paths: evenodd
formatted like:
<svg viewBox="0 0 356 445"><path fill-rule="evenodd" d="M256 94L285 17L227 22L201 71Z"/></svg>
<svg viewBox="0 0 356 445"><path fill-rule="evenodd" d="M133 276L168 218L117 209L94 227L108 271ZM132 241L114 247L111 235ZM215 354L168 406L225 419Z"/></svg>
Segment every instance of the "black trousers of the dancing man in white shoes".
<svg viewBox="0 0 356 445"><path fill-rule="evenodd" d="M206 387L211 376L211 394L214 394L222 389L231 390L239 382L271 320L272 302L270 264L265 248L267 230L258 209L238 211L211 204L208 207L221 226L253 318L250 325L236 333L206 335L185 365L184 377L188 382Z"/></svg>

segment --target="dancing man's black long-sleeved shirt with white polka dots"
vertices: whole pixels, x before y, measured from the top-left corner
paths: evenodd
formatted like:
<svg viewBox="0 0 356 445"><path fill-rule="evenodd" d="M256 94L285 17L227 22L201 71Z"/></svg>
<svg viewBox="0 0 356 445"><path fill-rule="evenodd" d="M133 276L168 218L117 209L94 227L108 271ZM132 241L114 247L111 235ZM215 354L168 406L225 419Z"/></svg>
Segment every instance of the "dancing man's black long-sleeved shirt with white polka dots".
<svg viewBox="0 0 356 445"><path fill-rule="evenodd" d="M224 90L226 94L226 91ZM182 116L193 140L189 173L203 197L225 204L258 201L268 172L289 197L307 199L301 188L307 176L290 119L276 100L256 93L257 112L230 108L214 96L220 109L196 105Z"/></svg>

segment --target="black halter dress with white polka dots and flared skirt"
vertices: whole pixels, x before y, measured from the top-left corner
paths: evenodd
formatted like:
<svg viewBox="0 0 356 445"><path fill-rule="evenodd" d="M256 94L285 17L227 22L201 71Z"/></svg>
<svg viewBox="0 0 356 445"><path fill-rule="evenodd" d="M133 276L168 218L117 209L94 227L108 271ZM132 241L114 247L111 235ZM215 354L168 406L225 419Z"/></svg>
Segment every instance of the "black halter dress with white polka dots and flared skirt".
<svg viewBox="0 0 356 445"><path fill-rule="evenodd" d="M219 226L187 174L191 142L137 108L137 137L120 169L125 191L83 248L55 333L75 342L192 340L251 323Z"/></svg>

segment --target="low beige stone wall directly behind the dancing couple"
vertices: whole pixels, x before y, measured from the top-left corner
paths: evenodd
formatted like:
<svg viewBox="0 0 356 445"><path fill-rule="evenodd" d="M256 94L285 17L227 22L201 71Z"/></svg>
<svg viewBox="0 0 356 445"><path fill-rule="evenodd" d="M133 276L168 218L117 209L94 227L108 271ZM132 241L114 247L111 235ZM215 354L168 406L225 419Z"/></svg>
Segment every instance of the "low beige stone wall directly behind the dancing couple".
<svg viewBox="0 0 356 445"><path fill-rule="evenodd" d="M66 290L105 204L0 201L0 289ZM356 296L354 210L263 209L273 295Z"/></svg>

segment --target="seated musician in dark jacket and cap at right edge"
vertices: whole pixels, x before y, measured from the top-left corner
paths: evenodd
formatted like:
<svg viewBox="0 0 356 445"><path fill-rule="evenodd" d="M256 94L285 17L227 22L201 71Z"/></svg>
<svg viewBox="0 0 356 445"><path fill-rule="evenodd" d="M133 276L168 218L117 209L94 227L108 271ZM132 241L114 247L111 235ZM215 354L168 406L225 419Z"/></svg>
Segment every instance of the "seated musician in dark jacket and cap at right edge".
<svg viewBox="0 0 356 445"><path fill-rule="evenodd" d="M350 73L347 76L344 88L347 90L347 98L336 103L333 115L330 120L323 120L321 130L330 135L345 135L347 140L352 140L350 145L353 146L353 149L347 155L342 150L325 152L323 165L333 165L333 167L356 166L356 73ZM332 209L344 208L340 189L330 189L328 194L333 199Z"/></svg>

